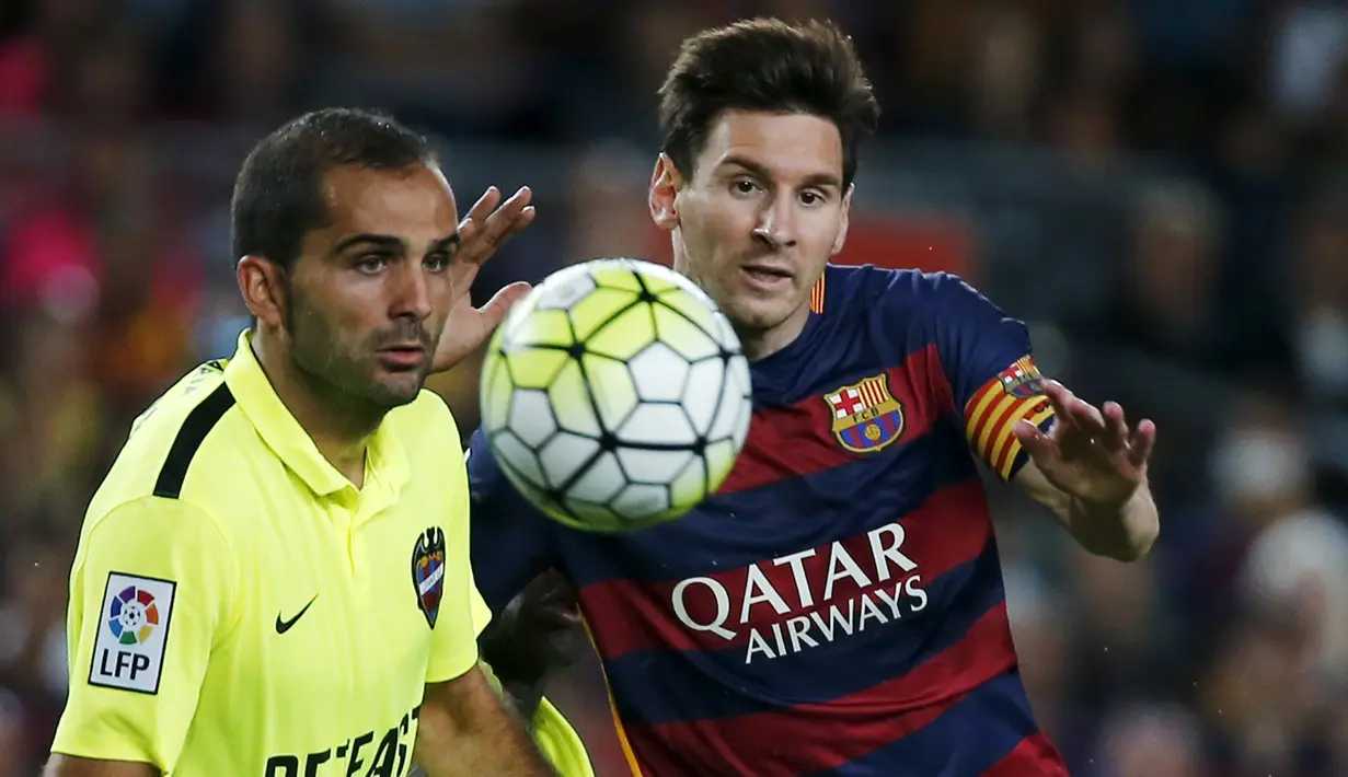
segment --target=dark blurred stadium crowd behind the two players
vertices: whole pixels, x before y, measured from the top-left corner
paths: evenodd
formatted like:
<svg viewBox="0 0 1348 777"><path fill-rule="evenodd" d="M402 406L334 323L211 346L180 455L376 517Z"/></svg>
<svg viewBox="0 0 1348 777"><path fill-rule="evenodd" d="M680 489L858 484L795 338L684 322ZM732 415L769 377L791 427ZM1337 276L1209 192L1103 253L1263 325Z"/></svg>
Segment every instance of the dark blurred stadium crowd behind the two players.
<svg viewBox="0 0 1348 777"><path fill-rule="evenodd" d="M244 326L228 202L299 110L433 133L539 218L483 299L667 256L644 206L678 42L855 38L886 114L841 261L952 269L1046 372L1161 428L1123 566L993 487L1041 723L1085 777L1348 774L1348 4L1310 0L0 0L0 776L66 689L66 575L129 420ZM462 428L476 368L437 378ZM597 668L553 689L624 774Z"/></svg>

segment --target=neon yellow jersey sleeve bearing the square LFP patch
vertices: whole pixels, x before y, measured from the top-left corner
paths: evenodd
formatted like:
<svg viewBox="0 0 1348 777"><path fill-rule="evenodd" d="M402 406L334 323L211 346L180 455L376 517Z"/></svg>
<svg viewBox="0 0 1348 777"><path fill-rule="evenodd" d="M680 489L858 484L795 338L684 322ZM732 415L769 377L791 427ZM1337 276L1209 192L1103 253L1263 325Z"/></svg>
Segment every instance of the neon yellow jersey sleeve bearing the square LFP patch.
<svg viewBox="0 0 1348 777"><path fill-rule="evenodd" d="M237 591L228 537L200 508L146 497L93 524L70 574L70 692L51 750L171 773Z"/></svg>

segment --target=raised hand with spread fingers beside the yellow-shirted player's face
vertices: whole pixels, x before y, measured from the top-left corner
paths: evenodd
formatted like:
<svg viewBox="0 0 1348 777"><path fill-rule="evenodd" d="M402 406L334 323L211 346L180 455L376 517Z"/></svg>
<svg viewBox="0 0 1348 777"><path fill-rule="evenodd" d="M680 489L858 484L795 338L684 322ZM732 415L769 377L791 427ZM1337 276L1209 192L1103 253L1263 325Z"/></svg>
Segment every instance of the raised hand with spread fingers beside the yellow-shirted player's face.
<svg viewBox="0 0 1348 777"><path fill-rule="evenodd" d="M454 302L435 347L431 372L446 370L473 353L500 326L511 306L528 294L530 285L518 281L497 291L480 308L473 307L470 296L483 264L532 224L532 197L526 186L501 202L500 190L491 186L458 224L460 246L449 271L454 281Z"/></svg>

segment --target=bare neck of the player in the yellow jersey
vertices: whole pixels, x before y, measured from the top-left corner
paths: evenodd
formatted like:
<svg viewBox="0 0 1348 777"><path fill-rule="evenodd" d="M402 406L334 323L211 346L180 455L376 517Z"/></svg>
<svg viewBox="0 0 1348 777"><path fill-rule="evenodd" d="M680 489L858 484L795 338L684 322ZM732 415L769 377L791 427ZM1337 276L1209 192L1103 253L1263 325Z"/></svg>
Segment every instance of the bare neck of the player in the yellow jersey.
<svg viewBox="0 0 1348 777"><path fill-rule="evenodd" d="M365 479L365 450L384 412L352 401L338 389L322 385L298 369L288 351L263 333L253 335L253 353L272 391L309 432L314 447L356 487Z"/></svg>

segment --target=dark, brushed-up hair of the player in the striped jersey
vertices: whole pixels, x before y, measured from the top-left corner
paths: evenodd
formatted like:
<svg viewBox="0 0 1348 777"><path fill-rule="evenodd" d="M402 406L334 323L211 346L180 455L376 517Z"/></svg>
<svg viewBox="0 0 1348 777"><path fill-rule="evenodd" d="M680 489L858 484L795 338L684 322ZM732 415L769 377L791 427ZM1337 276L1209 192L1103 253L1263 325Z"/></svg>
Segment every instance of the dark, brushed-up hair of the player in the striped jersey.
<svg viewBox="0 0 1348 777"><path fill-rule="evenodd" d="M851 183L857 145L880 119L852 39L832 22L751 19L700 32L683 42L659 96L663 151L685 175L717 116L755 110L836 124L842 179Z"/></svg>

